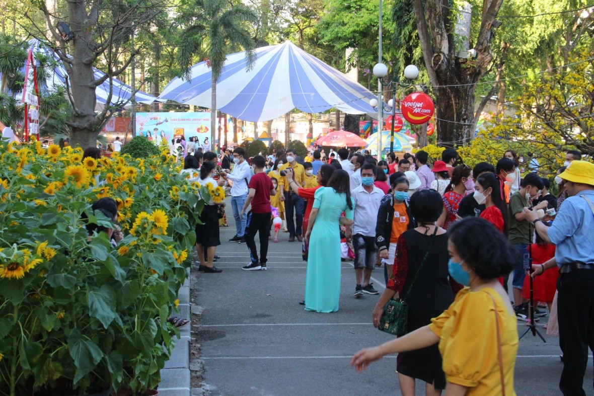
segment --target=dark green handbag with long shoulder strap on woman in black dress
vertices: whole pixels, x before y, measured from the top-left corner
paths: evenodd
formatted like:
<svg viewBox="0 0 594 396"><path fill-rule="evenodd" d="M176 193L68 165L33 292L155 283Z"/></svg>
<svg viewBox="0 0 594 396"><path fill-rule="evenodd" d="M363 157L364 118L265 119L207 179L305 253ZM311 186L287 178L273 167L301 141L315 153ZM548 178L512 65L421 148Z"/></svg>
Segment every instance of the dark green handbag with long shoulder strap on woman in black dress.
<svg viewBox="0 0 594 396"><path fill-rule="evenodd" d="M423 257L418 270L416 270L415 277L412 279L412 281L410 281L406 293L398 299L391 299L384 306L384 312L381 314L380 325L377 328L378 330L387 332L388 334L396 335L396 337L405 335L408 332L408 305L406 303L406 296L408 296L410 293L412 285L415 283L419 272L421 272L421 268L423 267L423 264L425 264L429 252L431 252L431 246L433 246L433 241L435 240L436 234L437 227L435 227L435 231L431 236L431 241L429 241L429 246L425 252L425 256Z"/></svg>

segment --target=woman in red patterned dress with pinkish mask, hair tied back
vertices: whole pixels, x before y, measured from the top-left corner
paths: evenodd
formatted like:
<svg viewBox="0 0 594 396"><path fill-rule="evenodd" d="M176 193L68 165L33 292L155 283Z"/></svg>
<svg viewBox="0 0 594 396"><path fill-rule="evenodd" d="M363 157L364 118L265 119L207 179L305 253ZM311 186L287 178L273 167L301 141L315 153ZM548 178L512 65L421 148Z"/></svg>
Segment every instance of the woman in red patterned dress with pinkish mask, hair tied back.
<svg viewBox="0 0 594 396"><path fill-rule="evenodd" d="M475 189L472 180L472 169L467 165L458 165L451 173L450 184L445 188L443 200L444 210L437 224L448 229L450 224L458 219L458 207L460 201L466 195L466 191Z"/></svg>

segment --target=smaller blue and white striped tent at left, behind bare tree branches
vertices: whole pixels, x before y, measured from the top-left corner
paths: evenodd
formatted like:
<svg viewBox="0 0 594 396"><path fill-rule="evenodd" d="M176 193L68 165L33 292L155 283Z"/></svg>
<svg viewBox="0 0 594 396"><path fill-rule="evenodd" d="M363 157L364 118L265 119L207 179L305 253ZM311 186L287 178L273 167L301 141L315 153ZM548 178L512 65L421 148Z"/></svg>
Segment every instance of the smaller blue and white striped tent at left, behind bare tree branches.
<svg viewBox="0 0 594 396"><path fill-rule="evenodd" d="M54 59L56 61L55 65L53 66L53 69L47 73L48 77L45 81L45 84L42 84L42 86L39 87L39 90L41 92L51 92L55 91L57 87L65 87L66 77L68 76L68 73L64 68L64 65L62 64L62 61L59 58L59 56L55 52L53 52L53 50L43 45L42 42L35 39L29 40L29 49L33 51L33 61L36 53L42 53L48 56L50 59ZM24 68L25 65L23 65L23 71ZM96 68L93 68L93 74L96 80L102 78L105 75L105 73L99 71L99 69ZM132 88L129 85L122 83L122 81L117 80L116 78L112 78L112 86L112 98L110 100L112 106L118 106L119 108L126 109L129 108L131 106L129 99L132 96ZM20 98L20 95L18 95L18 93L15 94L17 94L16 96ZM97 96L96 110L100 110L103 108L103 106L107 103L108 100L109 78L103 81L103 84L100 84L99 86L97 86L97 88L95 88L95 94ZM154 102L156 97L138 91L136 93L135 99L137 103L150 104Z"/></svg>

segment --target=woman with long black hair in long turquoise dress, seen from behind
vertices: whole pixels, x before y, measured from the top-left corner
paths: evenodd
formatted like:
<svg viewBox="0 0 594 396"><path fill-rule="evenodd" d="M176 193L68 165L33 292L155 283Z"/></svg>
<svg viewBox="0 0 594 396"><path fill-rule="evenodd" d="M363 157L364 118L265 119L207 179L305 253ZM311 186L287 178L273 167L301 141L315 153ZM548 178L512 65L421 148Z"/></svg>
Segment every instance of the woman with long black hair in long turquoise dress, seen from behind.
<svg viewBox="0 0 594 396"><path fill-rule="evenodd" d="M315 192L305 241L309 243L305 277L305 310L336 312L340 297L339 223L353 224L350 178L338 169L327 186ZM345 216L342 216L342 213Z"/></svg>

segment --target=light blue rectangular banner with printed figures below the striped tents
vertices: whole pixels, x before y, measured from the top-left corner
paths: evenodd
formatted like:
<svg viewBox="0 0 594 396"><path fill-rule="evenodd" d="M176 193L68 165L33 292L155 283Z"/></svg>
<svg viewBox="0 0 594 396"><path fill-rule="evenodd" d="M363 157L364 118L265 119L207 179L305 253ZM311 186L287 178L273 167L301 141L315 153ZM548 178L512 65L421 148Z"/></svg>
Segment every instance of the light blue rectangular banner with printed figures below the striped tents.
<svg viewBox="0 0 594 396"><path fill-rule="evenodd" d="M203 144L205 138L210 141L210 113L136 113L136 134L157 145L162 139L171 144L175 135L183 135L186 141L194 136Z"/></svg>

